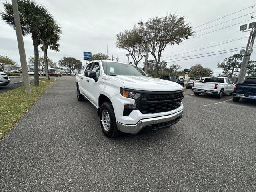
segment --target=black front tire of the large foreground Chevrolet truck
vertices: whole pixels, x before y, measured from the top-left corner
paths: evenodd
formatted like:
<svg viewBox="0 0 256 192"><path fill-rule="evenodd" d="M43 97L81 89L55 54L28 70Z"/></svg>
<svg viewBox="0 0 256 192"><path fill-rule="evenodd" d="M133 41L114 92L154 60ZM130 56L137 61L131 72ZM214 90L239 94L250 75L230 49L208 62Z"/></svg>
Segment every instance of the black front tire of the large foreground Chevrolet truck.
<svg viewBox="0 0 256 192"><path fill-rule="evenodd" d="M103 118L104 118L105 112L107 112L107 114L109 116L109 123L106 123L106 124L108 124L108 129L106 129L106 124L105 124L105 127L103 125L103 123L104 123ZM118 128L116 126L116 116L115 116L114 108L113 108L111 102L105 102L100 107L100 126L102 129L102 132L108 138L114 138L114 137L118 136Z"/></svg>

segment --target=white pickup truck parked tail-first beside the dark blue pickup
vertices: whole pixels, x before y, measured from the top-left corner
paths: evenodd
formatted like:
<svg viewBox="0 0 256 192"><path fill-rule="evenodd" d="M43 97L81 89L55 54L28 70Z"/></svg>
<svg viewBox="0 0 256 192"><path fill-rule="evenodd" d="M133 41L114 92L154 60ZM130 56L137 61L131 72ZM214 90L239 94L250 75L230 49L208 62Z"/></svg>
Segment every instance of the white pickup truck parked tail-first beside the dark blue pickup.
<svg viewBox="0 0 256 192"><path fill-rule="evenodd" d="M194 82L192 87L195 95L213 94L218 99L225 93L232 95L233 89L234 83L227 77L206 77L203 82Z"/></svg>

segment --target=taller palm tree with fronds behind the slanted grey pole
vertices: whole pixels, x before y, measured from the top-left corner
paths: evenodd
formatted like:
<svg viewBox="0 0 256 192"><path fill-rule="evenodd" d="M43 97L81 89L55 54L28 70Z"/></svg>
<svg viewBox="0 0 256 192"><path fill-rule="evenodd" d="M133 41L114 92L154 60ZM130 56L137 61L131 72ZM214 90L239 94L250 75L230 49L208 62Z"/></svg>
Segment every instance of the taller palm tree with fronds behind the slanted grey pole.
<svg viewBox="0 0 256 192"><path fill-rule="evenodd" d="M18 0L18 10L20 12L20 24L24 36L31 34L34 46L34 86L39 86L38 76L38 45L39 34L45 19L50 16L43 6L32 0ZM15 29L12 4L4 2L4 12L0 13L1 18Z"/></svg>

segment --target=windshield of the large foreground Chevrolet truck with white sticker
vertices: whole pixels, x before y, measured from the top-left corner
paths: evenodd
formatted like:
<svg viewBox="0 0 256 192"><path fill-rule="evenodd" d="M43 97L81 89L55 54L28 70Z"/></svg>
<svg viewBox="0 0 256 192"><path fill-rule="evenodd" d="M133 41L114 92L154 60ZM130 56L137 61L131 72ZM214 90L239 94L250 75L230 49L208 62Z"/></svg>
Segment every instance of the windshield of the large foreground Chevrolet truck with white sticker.
<svg viewBox="0 0 256 192"><path fill-rule="evenodd" d="M131 64L102 61L102 66L106 75L148 76L140 68Z"/></svg>

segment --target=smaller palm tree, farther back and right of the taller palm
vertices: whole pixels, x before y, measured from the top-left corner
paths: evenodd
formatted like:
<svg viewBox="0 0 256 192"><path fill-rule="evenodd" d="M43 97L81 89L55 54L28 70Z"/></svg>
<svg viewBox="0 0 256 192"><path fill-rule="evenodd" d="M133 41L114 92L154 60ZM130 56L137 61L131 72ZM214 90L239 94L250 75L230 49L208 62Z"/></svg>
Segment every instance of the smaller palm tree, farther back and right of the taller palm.
<svg viewBox="0 0 256 192"><path fill-rule="evenodd" d="M47 17L44 24L40 28L40 44L43 46L41 50L44 51L44 62L45 62L45 70L46 70L46 79L49 80L48 74L48 60L47 60L47 50L48 47L51 50L59 51L60 44L58 41L60 40L61 28L56 23L52 16Z"/></svg>

